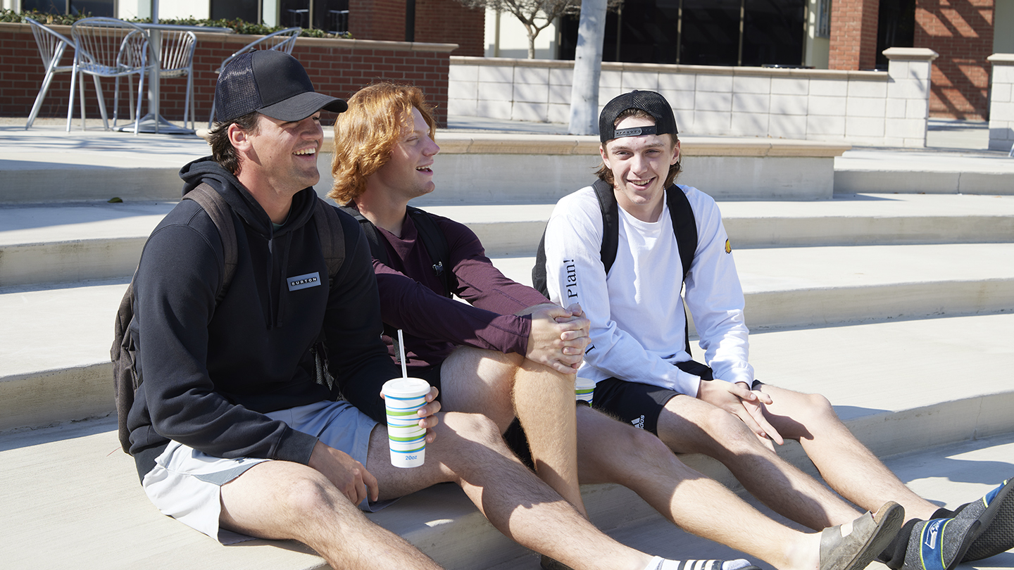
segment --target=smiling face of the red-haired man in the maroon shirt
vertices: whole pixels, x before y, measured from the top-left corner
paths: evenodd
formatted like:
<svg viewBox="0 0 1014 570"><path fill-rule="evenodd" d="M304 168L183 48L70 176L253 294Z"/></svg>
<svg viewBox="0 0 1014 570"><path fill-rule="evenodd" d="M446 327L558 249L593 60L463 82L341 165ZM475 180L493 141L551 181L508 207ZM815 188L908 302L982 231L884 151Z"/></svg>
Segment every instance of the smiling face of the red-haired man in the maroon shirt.
<svg viewBox="0 0 1014 570"><path fill-rule="evenodd" d="M440 147L430 138L430 127L416 108L413 124L407 126L390 151L390 158L366 181L367 192L384 193L408 202L433 192L433 157Z"/></svg>

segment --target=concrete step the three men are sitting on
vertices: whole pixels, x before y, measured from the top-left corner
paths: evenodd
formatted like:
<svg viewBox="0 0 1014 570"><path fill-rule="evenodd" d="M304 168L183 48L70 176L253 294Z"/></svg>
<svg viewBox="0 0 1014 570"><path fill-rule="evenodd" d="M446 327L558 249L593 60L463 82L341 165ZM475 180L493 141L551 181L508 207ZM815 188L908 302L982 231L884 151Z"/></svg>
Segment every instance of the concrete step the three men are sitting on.
<svg viewBox="0 0 1014 570"><path fill-rule="evenodd" d="M762 333L752 336L751 354L762 379L824 394L879 456L920 451L889 465L917 491L955 506L1014 474L1014 390L1003 373L1014 356L1012 335L1014 314L930 318ZM119 449L115 428L110 417L0 437L0 477L7 482L0 500L8 507L0 524L10 529L3 544L11 568L71 561L105 569L325 567L293 543L224 548L160 515L141 492L133 460ZM990 437L996 439L983 439ZM947 443L953 445L935 447ZM787 458L809 469L798 445L786 447ZM685 458L735 489L713 460ZM73 473L59 466L73 466ZM583 494L592 520L637 548L676 558L728 552L660 520L626 489L589 486ZM450 485L370 516L449 569L537 568ZM1011 562L1010 555L963 568L1009 567L995 565L1004 560Z"/></svg>

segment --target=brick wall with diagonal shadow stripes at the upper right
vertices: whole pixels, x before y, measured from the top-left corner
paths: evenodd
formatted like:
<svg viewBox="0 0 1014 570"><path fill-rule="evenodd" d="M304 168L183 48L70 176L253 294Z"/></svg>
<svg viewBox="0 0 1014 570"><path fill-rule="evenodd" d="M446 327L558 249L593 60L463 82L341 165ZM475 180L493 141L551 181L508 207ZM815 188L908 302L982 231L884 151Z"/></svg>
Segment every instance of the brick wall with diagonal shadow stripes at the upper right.
<svg viewBox="0 0 1014 570"><path fill-rule="evenodd" d="M983 121L989 102L994 0L916 0L916 47L933 62L930 116Z"/></svg>

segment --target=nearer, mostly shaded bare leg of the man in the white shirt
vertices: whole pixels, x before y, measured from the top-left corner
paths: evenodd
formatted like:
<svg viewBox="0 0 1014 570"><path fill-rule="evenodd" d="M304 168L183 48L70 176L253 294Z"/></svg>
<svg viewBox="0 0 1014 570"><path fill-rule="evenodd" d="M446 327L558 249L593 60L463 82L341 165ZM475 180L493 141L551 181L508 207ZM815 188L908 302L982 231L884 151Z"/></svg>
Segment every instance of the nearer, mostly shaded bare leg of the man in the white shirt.
<svg viewBox="0 0 1014 570"><path fill-rule="evenodd" d="M738 418L695 398L677 396L665 405L658 436L673 451L722 461L764 504L814 530L859 516L841 497L760 443Z"/></svg>

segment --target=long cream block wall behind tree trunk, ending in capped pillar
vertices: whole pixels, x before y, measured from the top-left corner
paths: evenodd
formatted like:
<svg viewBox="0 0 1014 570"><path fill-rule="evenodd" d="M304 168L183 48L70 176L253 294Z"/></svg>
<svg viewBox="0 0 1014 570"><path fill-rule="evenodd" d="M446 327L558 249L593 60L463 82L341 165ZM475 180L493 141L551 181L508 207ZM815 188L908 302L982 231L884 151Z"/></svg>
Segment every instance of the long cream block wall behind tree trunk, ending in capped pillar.
<svg viewBox="0 0 1014 570"><path fill-rule="evenodd" d="M599 110L632 89L662 93L681 133L922 147L930 50L892 49L887 72L603 63ZM568 123L573 62L452 57L448 113Z"/></svg>

